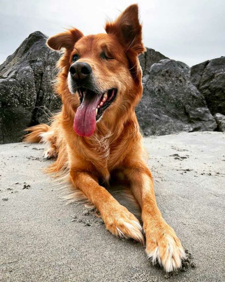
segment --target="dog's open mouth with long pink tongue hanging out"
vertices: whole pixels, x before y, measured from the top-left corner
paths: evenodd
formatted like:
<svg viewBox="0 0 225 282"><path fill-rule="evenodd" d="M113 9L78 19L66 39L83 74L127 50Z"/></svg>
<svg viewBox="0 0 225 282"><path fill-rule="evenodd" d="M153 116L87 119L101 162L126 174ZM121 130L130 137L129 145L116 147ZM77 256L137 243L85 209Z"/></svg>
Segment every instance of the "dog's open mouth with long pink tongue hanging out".
<svg viewBox="0 0 225 282"><path fill-rule="evenodd" d="M96 93L79 88L77 92L81 105L74 117L74 131L80 136L89 137L95 131L96 122L115 99L117 89L111 88L103 93Z"/></svg>

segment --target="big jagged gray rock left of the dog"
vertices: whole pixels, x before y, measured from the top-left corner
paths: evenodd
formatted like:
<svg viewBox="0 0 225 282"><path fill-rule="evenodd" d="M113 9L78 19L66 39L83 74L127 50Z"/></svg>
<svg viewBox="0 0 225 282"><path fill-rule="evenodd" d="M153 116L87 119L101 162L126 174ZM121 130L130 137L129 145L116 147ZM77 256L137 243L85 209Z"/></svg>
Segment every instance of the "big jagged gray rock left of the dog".
<svg viewBox="0 0 225 282"><path fill-rule="evenodd" d="M51 81L59 54L40 31L29 35L0 66L0 144L18 142L23 130L60 108Z"/></svg>

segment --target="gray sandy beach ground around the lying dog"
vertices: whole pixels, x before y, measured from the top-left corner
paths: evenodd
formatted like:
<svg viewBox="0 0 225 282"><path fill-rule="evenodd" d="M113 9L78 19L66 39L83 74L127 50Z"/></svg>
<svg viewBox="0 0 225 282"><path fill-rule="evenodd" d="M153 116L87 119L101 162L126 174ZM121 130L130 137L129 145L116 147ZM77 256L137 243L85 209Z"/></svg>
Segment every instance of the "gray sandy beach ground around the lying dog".
<svg viewBox="0 0 225 282"><path fill-rule="evenodd" d="M166 275L144 247L113 237L82 204L60 201L43 145L0 145L0 281L225 281L225 134L144 139L158 206L192 254ZM127 201L121 199L123 203Z"/></svg>

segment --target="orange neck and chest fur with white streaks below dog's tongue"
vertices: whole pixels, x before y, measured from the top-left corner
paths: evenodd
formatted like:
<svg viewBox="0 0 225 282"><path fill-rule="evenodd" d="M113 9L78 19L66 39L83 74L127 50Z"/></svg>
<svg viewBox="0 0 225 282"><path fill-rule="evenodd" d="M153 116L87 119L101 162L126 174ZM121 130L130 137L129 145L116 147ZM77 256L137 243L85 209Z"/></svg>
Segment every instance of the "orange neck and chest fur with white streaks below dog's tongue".
<svg viewBox="0 0 225 282"><path fill-rule="evenodd" d="M142 85L139 91L142 93ZM71 155L74 151L74 154L76 152L81 158L90 161L101 176L107 180L110 171L125 159L127 149L131 149L127 148L129 139L132 138L138 143L142 138L134 108L130 107L126 113L123 113L125 116L117 118L117 123L113 122L114 120L106 119L103 115L91 137L81 137L74 132L74 114L72 105L67 108L62 107L61 125L71 148Z"/></svg>

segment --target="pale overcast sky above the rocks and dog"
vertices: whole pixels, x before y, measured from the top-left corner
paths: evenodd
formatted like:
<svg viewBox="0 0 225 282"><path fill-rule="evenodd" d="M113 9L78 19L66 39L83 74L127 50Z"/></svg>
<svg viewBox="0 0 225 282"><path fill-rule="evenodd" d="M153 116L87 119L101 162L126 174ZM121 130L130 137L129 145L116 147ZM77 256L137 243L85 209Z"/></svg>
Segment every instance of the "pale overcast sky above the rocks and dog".
<svg viewBox="0 0 225 282"><path fill-rule="evenodd" d="M0 63L34 31L102 33L105 19L132 3L139 4L145 46L189 66L225 56L225 0L0 0Z"/></svg>

